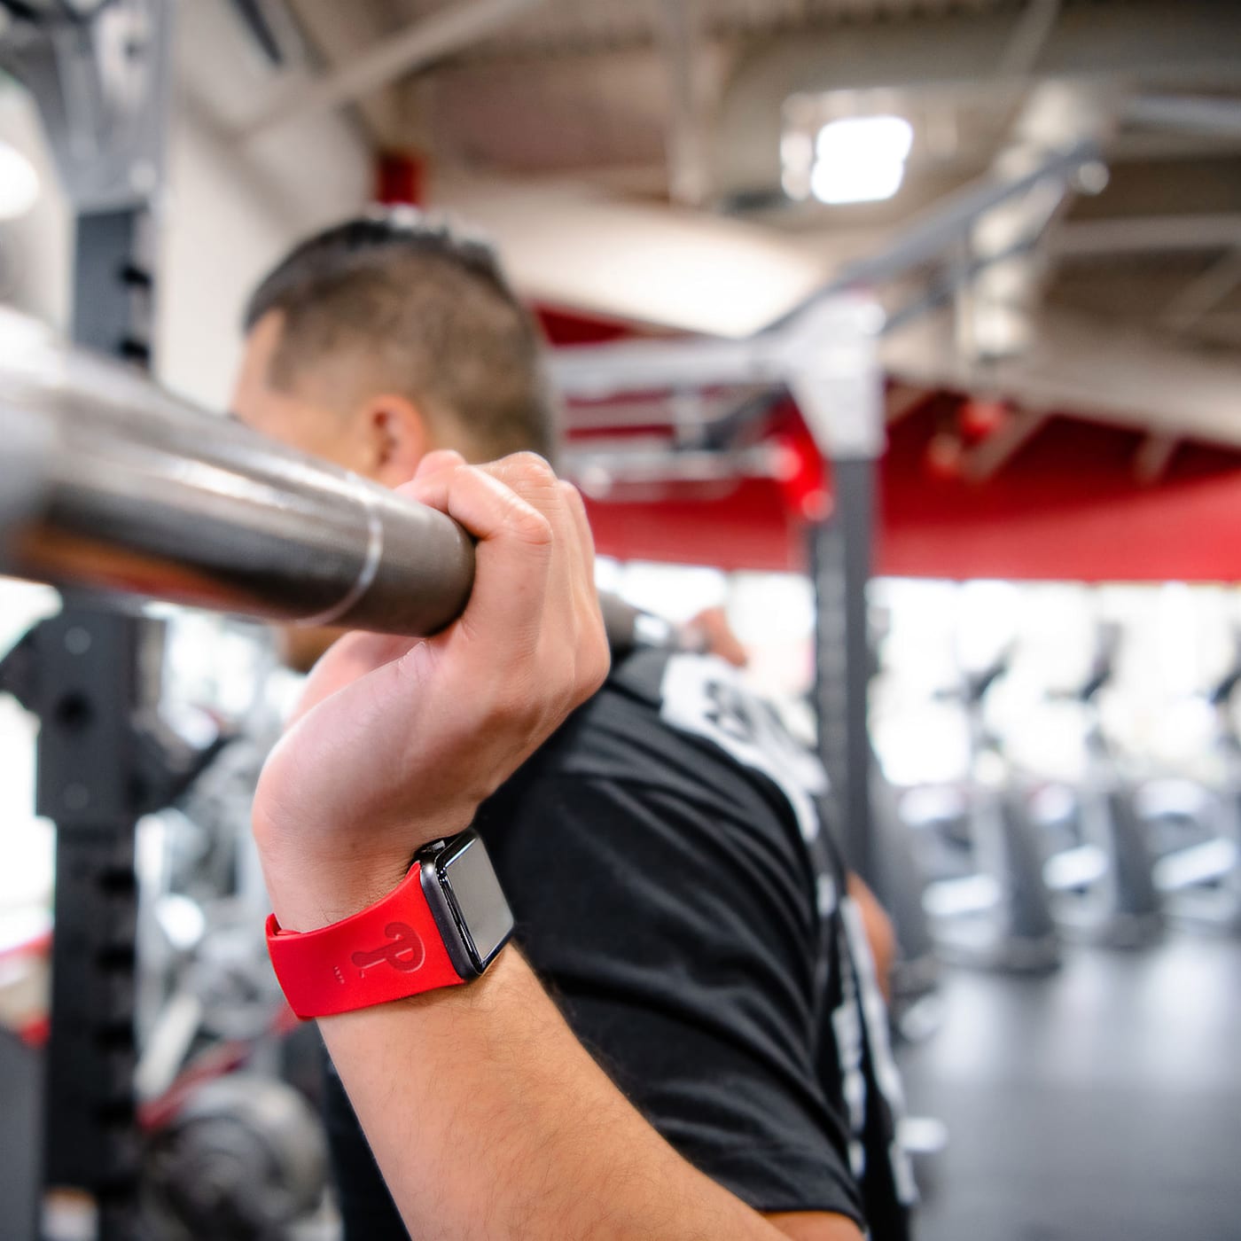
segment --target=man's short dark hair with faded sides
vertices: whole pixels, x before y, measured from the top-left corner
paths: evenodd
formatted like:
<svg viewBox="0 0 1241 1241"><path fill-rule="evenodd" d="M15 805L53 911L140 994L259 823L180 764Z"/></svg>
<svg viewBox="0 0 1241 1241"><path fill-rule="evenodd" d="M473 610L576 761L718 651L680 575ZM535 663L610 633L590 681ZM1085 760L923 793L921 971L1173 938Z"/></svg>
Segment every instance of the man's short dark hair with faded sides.
<svg viewBox="0 0 1241 1241"><path fill-rule="evenodd" d="M277 387L349 351L367 386L413 401L444 447L555 457L540 334L484 242L413 208L376 208L294 247L251 297L246 331L273 310Z"/></svg>

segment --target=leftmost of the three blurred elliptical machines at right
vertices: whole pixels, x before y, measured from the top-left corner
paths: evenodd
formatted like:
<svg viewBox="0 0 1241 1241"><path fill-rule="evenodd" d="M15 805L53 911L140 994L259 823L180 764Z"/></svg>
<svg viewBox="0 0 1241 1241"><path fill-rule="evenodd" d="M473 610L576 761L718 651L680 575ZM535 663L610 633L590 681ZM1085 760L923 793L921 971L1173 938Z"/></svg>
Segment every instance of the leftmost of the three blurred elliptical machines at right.
<svg viewBox="0 0 1241 1241"><path fill-rule="evenodd" d="M946 961L1014 973L1060 964L1060 936L1044 881L1044 851L1023 789L1010 777L1000 738L987 724L987 695L1009 670L1004 652L938 697L962 705L969 722L969 804L965 817L973 870L927 884L922 903Z"/></svg>

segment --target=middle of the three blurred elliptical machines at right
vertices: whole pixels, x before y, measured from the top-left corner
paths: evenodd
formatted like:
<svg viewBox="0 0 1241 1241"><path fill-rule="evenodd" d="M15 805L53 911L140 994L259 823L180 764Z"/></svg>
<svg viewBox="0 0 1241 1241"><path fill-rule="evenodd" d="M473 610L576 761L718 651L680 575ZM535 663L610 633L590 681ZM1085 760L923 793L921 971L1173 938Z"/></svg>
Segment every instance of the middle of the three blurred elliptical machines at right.
<svg viewBox="0 0 1241 1241"><path fill-rule="evenodd" d="M1078 704L1086 715L1086 774L1077 792L1081 844L1050 858L1045 874L1066 932L1113 948L1140 948L1163 931L1163 901L1133 787L1119 769L1100 711L1100 696L1116 676L1122 637L1118 624L1103 624L1085 681L1049 695Z"/></svg>

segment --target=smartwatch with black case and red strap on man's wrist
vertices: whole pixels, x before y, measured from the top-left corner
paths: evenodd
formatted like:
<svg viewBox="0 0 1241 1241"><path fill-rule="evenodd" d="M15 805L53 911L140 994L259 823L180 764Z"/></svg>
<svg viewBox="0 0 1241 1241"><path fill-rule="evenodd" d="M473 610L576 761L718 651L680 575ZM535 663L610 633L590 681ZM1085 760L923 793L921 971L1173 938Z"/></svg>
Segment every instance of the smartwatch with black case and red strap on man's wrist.
<svg viewBox="0 0 1241 1241"><path fill-rule="evenodd" d="M491 859L470 829L419 849L382 900L318 931L267 920L267 951L299 1018L454 987L478 978L513 933Z"/></svg>

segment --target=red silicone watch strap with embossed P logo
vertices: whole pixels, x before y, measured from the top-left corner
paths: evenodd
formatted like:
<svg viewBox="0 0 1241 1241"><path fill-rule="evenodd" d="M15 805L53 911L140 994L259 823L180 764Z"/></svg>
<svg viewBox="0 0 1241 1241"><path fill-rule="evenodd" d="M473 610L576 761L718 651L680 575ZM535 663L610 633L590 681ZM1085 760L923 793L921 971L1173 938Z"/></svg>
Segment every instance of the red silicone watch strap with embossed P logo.
<svg viewBox="0 0 1241 1241"><path fill-rule="evenodd" d="M464 982L422 891L419 862L382 900L318 931L282 931L271 915L267 951L289 1006L303 1019Z"/></svg>

